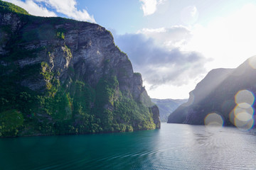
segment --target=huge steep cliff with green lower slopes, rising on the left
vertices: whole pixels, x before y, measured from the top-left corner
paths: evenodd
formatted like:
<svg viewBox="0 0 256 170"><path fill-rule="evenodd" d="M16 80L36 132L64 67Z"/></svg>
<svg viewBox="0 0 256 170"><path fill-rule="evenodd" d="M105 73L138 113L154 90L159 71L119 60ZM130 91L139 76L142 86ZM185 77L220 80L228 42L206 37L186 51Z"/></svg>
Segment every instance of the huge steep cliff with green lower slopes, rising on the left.
<svg viewBox="0 0 256 170"><path fill-rule="evenodd" d="M141 74L108 30L0 7L0 135L160 128Z"/></svg>

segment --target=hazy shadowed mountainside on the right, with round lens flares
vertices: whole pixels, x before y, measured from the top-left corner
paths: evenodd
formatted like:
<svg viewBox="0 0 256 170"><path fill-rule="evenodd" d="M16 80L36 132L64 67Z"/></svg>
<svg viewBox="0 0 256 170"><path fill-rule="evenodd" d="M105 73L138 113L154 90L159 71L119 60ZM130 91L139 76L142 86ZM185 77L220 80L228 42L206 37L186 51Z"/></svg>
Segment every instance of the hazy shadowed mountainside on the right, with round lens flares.
<svg viewBox="0 0 256 170"><path fill-rule="evenodd" d="M224 125L252 128L256 93L256 57L236 69L214 69L191 91L190 98L171 113L168 123L205 124L210 113Z"/></svg>

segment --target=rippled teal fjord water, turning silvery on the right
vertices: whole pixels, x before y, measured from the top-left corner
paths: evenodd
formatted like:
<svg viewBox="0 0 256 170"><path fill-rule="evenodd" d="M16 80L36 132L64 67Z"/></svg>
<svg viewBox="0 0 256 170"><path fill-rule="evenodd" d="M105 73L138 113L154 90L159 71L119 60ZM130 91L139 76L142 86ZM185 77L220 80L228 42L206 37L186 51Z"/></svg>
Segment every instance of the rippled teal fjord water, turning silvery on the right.
<svg viewBox="0 0 256 170"><path fill-rule="evenodd" d="M256 169L256 131L161 130L0 139L0 169Z"/></svg>

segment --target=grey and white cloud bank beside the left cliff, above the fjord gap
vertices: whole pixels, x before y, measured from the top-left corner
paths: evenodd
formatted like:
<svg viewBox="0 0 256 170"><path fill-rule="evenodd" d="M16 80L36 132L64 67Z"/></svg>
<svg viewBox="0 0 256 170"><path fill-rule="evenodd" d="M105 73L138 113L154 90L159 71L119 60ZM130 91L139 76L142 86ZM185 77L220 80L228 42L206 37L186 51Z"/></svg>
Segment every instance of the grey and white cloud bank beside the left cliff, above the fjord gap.
<svg viewBox="0 0 256 170"><path fill-rule="evenodd" d="M190 38L190 31L182 26L142 29L137 34L114 37L120 49L127 52L134 71L142 73L146 90L153 98L188 98L189 91L206 74L204 65L208 60L203 55L176 45L181 41L186 44ZM174 90L180 86L186 89L183 93ZM170 87L169 91L161 90L166 87Z"/></svg>

